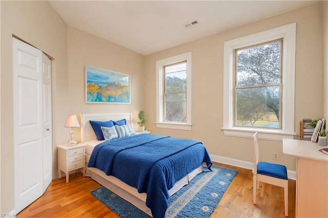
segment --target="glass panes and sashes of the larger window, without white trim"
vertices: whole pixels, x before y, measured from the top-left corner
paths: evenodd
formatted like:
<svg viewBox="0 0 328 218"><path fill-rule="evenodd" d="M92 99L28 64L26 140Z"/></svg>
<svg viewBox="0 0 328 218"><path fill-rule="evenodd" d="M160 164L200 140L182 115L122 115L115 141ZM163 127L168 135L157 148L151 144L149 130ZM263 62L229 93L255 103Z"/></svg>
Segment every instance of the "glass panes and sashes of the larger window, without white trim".
<svg viewBox="0 0 328 218"><path fill-rule="evenodd" d="M281 128L281 45L235 50L235 126Z"/></svg>

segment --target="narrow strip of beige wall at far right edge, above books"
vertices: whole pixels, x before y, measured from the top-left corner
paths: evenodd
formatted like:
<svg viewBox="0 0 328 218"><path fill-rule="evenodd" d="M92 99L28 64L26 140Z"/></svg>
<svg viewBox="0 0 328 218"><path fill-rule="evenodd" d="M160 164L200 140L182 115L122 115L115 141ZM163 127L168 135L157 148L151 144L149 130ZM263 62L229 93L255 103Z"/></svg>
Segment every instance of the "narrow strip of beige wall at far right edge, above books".
<svg viewBox="0 0 328 218"><path fill-rule="evenodd" d="M322 11L322 116L328 119L328 2L321 2ZM328 126L326 124L326 126Z"/></svg>

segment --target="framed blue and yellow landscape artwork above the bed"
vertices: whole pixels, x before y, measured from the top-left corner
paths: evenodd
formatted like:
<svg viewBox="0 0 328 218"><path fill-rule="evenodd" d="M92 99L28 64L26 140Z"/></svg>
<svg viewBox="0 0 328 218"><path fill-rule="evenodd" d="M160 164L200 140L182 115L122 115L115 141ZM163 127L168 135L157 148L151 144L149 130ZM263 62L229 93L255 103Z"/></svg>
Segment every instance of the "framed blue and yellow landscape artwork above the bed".
<svg viewBox="0 0 328 218"><path fill-rule="evenodd" d="M87 103L130 103L130 75L86 66Z"/></svg>

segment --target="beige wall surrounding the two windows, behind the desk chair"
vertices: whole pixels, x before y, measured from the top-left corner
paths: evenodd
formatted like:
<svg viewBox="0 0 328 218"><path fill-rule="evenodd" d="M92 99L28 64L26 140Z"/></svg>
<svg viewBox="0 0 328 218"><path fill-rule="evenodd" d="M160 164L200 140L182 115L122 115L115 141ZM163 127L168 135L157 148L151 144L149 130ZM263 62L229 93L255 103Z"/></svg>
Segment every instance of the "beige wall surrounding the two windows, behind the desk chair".
<svg viewBox="0 0 328 218"><path fill-rule="evenodd" d="M222 127L223 43L224 41L297 23L295 132L302 118L321 117L321 8L320 3L265 18L197 41L146 56L145 98L147 127L152 133L192 138L203 142L210 154L252 162L250 139L226 137ZM156 60L192 52L192 130L156 128ZM313 106L317 105L317 106ZM263 160L273 161L273 151L279 152L277 163L295 170L295 158L282 154L282 142L260 140Z"/></svg>

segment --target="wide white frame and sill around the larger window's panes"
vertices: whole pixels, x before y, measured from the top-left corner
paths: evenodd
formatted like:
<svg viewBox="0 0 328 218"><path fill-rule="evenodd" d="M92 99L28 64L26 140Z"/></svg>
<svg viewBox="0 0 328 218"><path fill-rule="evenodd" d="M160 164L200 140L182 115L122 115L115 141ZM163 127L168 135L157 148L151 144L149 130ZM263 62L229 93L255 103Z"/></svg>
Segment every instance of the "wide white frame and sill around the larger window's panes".
<svg viewBox="0 0 328 218"><path fill-rule="evenodd" d="M281 129L234 126L234 52L236 49L250 47L282 38L282 95L281 95ZM254 132L259 138L282 140L293 138L295 107L295 47L296 23L273 28L267 31L240 37L224 42L223 51L223 130L224 135L234 137L251 137ZM288 85L285 85L288 84Z"/></svg>

